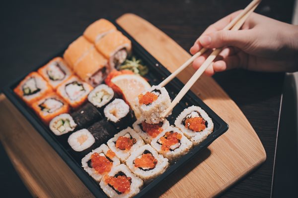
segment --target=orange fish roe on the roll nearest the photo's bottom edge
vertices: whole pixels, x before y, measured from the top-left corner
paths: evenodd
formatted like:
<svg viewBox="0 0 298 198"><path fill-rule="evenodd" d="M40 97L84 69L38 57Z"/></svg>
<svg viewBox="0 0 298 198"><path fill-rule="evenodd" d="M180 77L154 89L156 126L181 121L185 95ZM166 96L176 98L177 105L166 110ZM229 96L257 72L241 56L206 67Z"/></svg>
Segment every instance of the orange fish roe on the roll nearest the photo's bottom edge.
<svg viewBox="0 0 298 198"><path fill-rule="evenodd" d="M120 193L128 193L130 191L132 178L126 177L126 176L112 177L112 176L105 175L104 181L106 184L113 186L113 188L116 191Z"/></svg>

